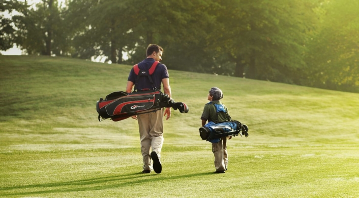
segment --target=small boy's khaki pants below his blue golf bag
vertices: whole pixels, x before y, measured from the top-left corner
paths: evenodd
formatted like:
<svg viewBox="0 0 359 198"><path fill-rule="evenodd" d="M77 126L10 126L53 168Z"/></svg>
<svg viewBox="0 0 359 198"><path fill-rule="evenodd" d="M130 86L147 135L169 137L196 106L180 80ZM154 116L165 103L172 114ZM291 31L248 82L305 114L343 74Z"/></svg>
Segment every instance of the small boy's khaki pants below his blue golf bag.
<svg viewBox="0 0 359 198"><path fill-rule="evenodd" d="M218 143L212 143L214 167L216 171L225 171L228 166L227 137L221 138Z"/></svg>

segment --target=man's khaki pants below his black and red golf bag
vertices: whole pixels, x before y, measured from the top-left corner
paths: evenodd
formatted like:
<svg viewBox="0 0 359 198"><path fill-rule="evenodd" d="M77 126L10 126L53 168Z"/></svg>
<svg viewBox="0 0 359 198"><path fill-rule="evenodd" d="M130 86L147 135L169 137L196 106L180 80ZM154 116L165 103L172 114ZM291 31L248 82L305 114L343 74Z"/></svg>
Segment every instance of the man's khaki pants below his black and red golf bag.
<svg viewBox="0 0 359 198"><path fill-rule="evenodd" d="M156 112L137 115L140 131L143 169L152 170L150 149L161 156L163 144L163 108Z"/></svg>

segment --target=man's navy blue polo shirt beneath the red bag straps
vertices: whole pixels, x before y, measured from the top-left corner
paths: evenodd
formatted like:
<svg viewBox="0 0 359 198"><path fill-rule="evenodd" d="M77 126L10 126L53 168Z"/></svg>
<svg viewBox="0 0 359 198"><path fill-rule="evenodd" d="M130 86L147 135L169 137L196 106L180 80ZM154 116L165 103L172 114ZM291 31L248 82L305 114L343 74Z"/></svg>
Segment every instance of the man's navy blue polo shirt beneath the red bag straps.
<svg viewBox="0 0 359 198"><path fill-rule="evenodd" d="M147 58L138 64L138 68L140 70L147 71L150 69L150 67L152 66L153 63L154 63L153 58ZM135 84L136 78L137 78L137 75L133 71L133 67L132 67L127 80L131 81ZM151 75L151 78L152 78L152 81L153 81L154 85L156 86L156 88L160 89L162 79L169 78L169 74L168 74L166 65L159 63L157 65L156 69L154 70L153 74ZM142 89L152 89L151 82L149 80L149 77L147 77L147 76L141 76L139 78L137 90L142 90Z"/></svg>

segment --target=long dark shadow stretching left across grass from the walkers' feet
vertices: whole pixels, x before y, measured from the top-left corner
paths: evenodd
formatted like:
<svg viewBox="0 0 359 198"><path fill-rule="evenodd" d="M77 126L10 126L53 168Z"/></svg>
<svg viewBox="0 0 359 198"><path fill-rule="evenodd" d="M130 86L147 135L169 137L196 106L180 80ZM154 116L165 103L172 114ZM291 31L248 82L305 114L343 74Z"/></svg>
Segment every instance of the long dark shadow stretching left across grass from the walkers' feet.
<svg viewBox="0 0 359 198"><path fill-rule="evenodd" d="M61 192L81 192L81 191L95 191L111 188L121 188L133 185L143 185L150 182L158 182L164 180L174 180L180 178L189 178L196 176L212 175L213 173L193 173L184 175L166 175L166 174L144 174L144 173L130 173L124 175L98 177L90 179L81 179L75 181L57 182L57 183L44 183L32 184L23 186L13 186L0 188L0 191L20 190L18 193L2 194L2 196L26 196L33 194L47 194L47 193L61 193ZM114 181L118 181L113 184ZM111 184L104 184L110 182ZM50 188L49 190L31 191L32 188ZM24 192L28 191L28 192ZM1 193L0 193L1 195Z"/></svg>

